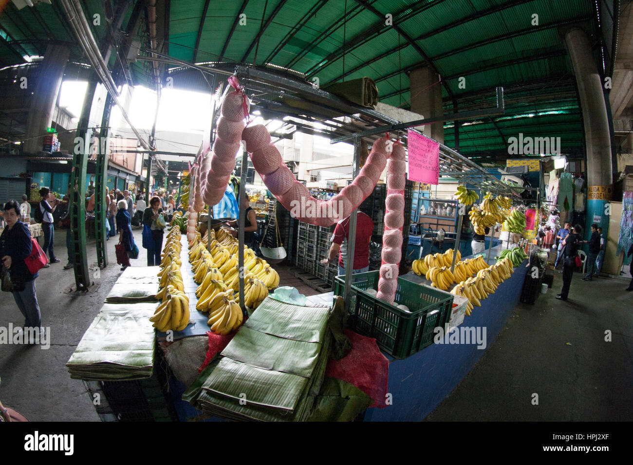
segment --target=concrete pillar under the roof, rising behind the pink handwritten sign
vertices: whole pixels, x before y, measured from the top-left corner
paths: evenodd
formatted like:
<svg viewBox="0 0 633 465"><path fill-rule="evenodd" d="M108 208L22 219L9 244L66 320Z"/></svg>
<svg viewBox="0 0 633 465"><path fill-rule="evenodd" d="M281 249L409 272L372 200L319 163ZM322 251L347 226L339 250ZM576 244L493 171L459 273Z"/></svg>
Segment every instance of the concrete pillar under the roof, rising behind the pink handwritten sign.
<svg viewBox="0 0 633 465"><path fill-rule="evenodd" d="M423 118L435 118L444 115L442 108L442 85L439 77L429 66L411 71L409 75L411 92L411 111ZM444 144L444 121L424 126L424 135Z"/></svg>

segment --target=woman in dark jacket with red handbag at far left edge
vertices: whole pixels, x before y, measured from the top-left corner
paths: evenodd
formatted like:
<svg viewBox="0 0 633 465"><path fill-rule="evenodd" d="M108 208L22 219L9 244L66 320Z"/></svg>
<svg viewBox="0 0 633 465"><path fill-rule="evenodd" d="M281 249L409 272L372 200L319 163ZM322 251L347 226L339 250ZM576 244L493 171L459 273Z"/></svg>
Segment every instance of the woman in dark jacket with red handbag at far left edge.
<svg viewBox="0 0 633 465"><path fill-rule="evenodd" d="M23 286L23 290L12 292L13 299L24 315L25 328L41 328L42 318L35 294L37 273L32 275L24 261L33 248L31 233L20 221L18 202L12 200L4 204L4 219L7 227L0 235L0 258L11 274L11 282L18 288Z"/></svg>

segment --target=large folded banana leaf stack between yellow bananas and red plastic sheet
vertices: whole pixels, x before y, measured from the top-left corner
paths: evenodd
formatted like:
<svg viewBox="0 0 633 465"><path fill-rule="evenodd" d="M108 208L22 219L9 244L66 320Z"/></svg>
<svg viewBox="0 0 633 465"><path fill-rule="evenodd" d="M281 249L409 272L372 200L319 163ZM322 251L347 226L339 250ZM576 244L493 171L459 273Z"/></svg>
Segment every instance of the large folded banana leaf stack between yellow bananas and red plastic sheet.
<svg viewBox="0 0 633 465"><path fill-rule="evenodd" d="M325 376L331 313L266 298L183 399L225 419L305 421Z"/></svg>

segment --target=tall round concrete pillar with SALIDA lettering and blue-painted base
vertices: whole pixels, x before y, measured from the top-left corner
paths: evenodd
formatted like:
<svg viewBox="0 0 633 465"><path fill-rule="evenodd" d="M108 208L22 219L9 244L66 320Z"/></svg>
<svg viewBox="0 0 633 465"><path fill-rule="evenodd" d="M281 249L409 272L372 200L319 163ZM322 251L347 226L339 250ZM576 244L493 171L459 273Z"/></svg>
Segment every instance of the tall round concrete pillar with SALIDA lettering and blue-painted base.
<svg viewBox="0 0 633 465"><path fill-rule="evenodd" d="M565 33L565 45L576 77L587 150L587 221L585 237L591 236L591 224L602 226L606 237L609 228L613 174L611 137L606 110L603 80L591 52L586 32L572 28ZM565 141L562 142L563 146Z"/></svg>

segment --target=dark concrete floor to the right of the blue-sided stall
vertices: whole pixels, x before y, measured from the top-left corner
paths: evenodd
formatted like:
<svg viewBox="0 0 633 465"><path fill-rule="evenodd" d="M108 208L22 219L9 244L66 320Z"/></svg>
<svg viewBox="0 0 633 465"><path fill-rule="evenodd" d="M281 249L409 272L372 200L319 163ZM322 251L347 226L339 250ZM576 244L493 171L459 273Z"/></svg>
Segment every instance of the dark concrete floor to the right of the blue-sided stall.
<svg viewBox="0 0 633 465"><path fill-rule="evenodd" d="M494 344L427 421L630 421L633 293L628 279L584 282L567 302L562 275L519 304ZM611 333L606 342L605 332ZM538 405L532 404L533 394Z"/></svg>

